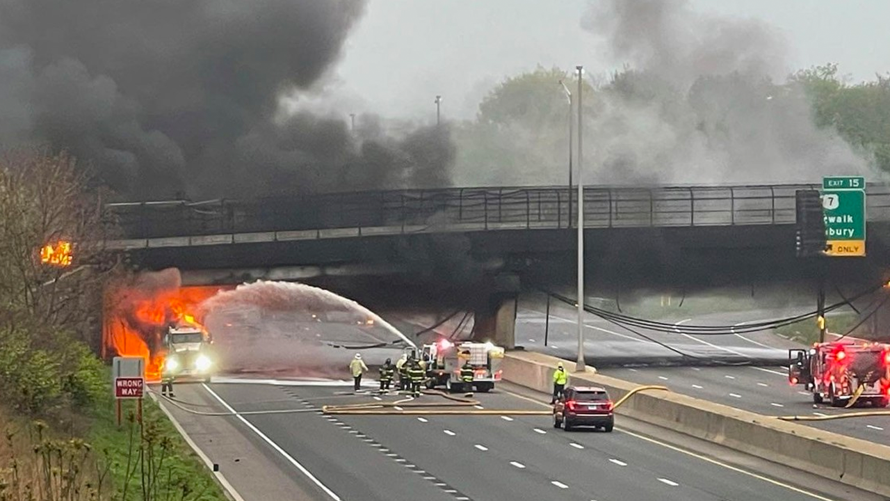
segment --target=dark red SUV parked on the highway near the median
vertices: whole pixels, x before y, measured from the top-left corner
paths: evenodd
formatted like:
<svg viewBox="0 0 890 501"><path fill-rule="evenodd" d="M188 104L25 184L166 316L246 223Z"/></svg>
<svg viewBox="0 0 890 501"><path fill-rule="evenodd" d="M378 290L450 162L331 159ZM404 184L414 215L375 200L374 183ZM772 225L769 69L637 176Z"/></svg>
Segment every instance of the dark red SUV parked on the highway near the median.
<svg viewBox="0 0 890 501"><path fill-rule="evenodd" d="M570 386L554 404L554 428L569 431L576 426L595 426L612 431L615 415L609 392L594 386Z"/></svg>

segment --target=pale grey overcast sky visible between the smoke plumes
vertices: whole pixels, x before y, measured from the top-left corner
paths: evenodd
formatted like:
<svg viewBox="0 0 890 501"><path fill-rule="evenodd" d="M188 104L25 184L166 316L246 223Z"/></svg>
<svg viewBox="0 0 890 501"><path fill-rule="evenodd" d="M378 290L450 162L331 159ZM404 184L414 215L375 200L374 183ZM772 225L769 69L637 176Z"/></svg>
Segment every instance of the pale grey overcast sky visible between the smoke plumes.
<svg viewBox="0 0 890 501"><path fill-rule="evenodd" d="M595 0L591 0L595 2ZM837 62L854 81L890 70L887 0L690 0L703 14L756 18L787 41L788 71ZM370 0L336 65L329 95L342 113L452 118L522 70L584 64L606 75L603 41L581 28L587 0ZM326 100L327 101L327 100Z"/></svg>

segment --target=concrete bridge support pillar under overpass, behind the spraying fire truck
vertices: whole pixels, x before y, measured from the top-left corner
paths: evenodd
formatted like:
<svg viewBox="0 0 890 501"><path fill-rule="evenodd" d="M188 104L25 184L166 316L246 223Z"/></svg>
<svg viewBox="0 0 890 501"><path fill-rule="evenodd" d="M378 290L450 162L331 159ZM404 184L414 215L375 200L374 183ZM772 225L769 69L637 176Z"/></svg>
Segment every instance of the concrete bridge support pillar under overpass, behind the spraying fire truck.
<svg viewBox="0 0 890 501"><path fill-rule="evenodd" d="M473 312L473 340L491 341L505 349L514 349L519 277L501 274L494 282L488 303Z"/></svg>

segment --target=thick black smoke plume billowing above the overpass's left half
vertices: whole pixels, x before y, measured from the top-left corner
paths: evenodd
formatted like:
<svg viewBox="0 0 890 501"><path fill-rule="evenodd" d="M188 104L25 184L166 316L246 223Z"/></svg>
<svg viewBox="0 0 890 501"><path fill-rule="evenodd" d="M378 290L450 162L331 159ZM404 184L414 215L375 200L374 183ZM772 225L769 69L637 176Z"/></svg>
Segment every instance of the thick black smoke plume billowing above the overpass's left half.
<svg viewBox="0 0 890 501"><path fill-rule="evenodd" d="M281 119L362 0L0 0L0 146L52 144L131 199L447 183L445 128L361 141Z"/></svg>

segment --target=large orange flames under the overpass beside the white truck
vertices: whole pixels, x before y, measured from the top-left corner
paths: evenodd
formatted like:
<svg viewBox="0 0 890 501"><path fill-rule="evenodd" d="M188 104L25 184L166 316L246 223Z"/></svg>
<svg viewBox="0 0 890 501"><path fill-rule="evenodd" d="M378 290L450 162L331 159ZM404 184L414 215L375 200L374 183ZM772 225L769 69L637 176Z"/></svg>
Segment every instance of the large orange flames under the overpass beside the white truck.
<svg viewBox="0 0 890 501"><path fill-rule="evenodd" d="M144 358L146 379L158 381L164 364L162 341L167 327L187 324L206 332L196 317L196 310L219 290L213 286L181 287L153 296L139 291L109 290L103 318L104 348L119 357ZM130 300L115 304L110 296Z"/></svg>

